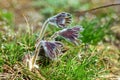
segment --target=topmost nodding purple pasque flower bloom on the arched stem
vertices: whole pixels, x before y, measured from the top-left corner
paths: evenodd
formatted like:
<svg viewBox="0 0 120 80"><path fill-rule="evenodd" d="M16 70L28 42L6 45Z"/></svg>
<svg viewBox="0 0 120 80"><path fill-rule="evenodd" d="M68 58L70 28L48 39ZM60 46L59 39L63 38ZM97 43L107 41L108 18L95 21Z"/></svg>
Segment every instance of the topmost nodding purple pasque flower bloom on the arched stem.
<svg viewBox="0 0 120 80"><path fill-rule="evenodd" d="M62 12L49 18L49 22L59 28L65 28L72 22L72 16L69 13Z"/></svg>

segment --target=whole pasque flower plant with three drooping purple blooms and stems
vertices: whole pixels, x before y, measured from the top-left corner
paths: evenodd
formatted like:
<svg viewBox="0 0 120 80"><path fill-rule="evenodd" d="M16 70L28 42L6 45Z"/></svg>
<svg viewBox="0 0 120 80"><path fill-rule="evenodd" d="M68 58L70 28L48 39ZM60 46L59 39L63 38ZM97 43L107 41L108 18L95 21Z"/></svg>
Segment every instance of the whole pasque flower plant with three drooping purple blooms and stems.
<svg viewBox="0 0 120 80"><path fill-rule="evenodd" d="M34 65L36 65L36 60L40 52L41 46L45 51L46 57L52 60L55 60L58 56L60 56L62 54L63 44L61 42L53 40L53 38L56 38L57 36L62 36L66 40L74 43L75 45L78 45L79 32L83 31L84 29L82 28L82 26L74 26L72 28L69 28L68 26L71 23L72 23L72 16L71 14L66 12L62 12L51 18L48 18L42 26L42 29L38 38L38 42L36 43L37 46L36 46L34 55L32 56L32 59L30 59L30 55L27 55L24 57L24 58L27 58L26 63L32 60L31 61L32 64L29 64L29 65L32 65L32 68L34 68ZM50 38L51 40L47 41L47 40L43 40L43 36L48 27L48 24L55 25L56 27L61 28L62 30L55 32L52 38Z"/></svg>

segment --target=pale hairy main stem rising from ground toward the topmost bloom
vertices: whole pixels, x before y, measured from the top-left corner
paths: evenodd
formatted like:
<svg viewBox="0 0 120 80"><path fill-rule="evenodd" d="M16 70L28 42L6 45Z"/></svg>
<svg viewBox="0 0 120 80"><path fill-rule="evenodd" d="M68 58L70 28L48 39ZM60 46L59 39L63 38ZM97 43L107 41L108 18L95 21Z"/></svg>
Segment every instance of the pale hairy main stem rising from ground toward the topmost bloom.
<svg viewBox="0 0 120 80"><path fill-rule="evenodd" d="M40 31L40 34L39 34L39 37L38 37L38 43L36 45L35 53L34 53L34 56L32 58L32 68L34 67L34 65L36 63L36 60L38 58L38 54L40 52L40 47L41 47L40 41L42 40L42 38L43 38L43 36L45 34L45 31L47 29L48 23L49 23L49 19L44 22L44 24L42 26L42 29Z"/></svg>

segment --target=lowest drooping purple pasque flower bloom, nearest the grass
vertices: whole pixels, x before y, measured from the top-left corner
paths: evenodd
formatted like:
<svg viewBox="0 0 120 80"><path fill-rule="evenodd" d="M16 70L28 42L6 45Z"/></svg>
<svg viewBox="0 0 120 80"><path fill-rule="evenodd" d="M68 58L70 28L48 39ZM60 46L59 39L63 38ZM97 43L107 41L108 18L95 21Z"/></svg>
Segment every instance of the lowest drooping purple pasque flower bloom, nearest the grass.
<svg viewBox="0 0 120 80"><path fill-rule="evenodd" d="M58 55L62 54L61 49L63 44L58 41L41 41L40 44L45 50L46 57L50 59L55 59Z"/></svg>

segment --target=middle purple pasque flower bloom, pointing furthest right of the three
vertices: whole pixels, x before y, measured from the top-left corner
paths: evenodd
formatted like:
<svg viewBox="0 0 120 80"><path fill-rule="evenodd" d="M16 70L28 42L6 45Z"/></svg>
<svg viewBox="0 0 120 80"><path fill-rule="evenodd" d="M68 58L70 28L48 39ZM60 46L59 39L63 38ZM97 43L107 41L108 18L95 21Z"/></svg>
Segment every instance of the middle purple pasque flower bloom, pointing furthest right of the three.
<svg viewBox="0 0 120 80"><path fill-rule="evenodd" d="M63 29L59 31L58 34L77 45L79 43L79 31L83 30L81 26L75 26L73 28Z"/></svg>

